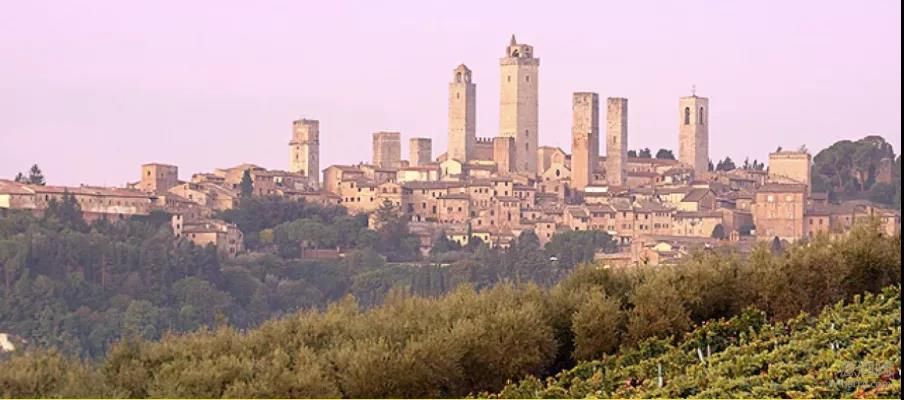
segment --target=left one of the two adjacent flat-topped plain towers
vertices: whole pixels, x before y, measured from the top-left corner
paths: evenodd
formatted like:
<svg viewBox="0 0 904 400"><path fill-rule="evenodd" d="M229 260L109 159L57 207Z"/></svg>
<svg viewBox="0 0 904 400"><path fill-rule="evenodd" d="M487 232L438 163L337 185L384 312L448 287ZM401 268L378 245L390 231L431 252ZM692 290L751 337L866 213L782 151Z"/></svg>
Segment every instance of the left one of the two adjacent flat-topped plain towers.
<svg viewBox="0 0 904 400"><path fill-rule="evenodd" d="M575 93L571 104L571 186L583 190L593 182L600 154L600 99Z"/></svg>

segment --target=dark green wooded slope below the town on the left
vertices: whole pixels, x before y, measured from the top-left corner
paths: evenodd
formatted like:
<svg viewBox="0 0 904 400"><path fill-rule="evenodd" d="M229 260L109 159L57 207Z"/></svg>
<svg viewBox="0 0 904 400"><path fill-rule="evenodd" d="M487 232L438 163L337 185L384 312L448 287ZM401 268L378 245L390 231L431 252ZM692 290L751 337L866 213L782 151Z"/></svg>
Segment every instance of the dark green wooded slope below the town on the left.
<svg viewBox="0 0 904 400"><path fill-rule="evenodd" d="M566 249L577 256L555 264L535 236L510 251L475 241L395 263L417 258L397 214L383 215L381 227L370 230L366 216L338 207L252 198L223 216L247 229L249 246L260 252L220 259L212 246L174 239L166 214L89 226L68 195L52 202L43 218L0 215L0 332L36 347L101 357L123 337L157 339L218 325L251 328L299 309L322 309L349 294L368 308L392 288L440 296L465 283L548 286L609 243L592 233L585 235L593 240L556 237L554 253ZM301 260L302 245L340 247L346 257Z"/></svg>

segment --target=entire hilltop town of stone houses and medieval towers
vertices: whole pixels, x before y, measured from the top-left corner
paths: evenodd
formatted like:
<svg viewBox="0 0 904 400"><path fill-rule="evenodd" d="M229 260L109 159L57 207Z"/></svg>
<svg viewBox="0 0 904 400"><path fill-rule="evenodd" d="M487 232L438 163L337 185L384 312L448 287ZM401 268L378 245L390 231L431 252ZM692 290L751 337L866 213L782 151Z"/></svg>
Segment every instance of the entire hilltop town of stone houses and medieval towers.
<svg viewBox="0 0 904 400"><path fill-rule="evenodd" d="M320 123L299 119L292 123L286 170L242 164L184 180L175 165L148 163L136 182L120 188L0 180L0 208L40 213L68 193L89 221L161 210L173 215L174 236L215 244L227 256L244 251L243 235L215 214L246 196L339 205L352 214L392 207L409 221L424 253L440 235L461 245L479 239L506 248L527 230L541 244L561 231L605 231L620 250L599 258L613 265L675 262L700 246L743 250L757 241L843 234L867 217L889 234L900 230L897 210L865 200L834 203L814 191L805 148L779 148L766 165L713 168L710 99L696 92L677 102L677 156L629 151L628 99L602 100L593 92L573 94L569 151L544 146L540 59L512 36L499 64L498 134L477 136L477 85L459 65L449 82L448 148L440 154L431 138L412 137L403 159L402 134L381 131L372 136L372 162L321 170ZM877 181L891 182L892 160L882 166Z"/></svg>

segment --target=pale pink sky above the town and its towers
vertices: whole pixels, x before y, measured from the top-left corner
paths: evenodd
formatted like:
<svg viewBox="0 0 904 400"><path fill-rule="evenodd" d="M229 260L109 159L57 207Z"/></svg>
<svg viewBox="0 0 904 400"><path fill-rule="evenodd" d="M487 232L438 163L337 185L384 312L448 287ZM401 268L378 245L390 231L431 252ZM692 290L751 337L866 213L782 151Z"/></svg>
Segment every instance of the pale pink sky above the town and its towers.
<svg viewBox="0 0 904 400"><path fill-rule="evenodd" d="M288 168L291 122L320 120L321 167L371 133L446 147L447 84L474 71L498 130L509 36L540 66L540 142L570 151L571 93L627 97L629 147L677 150L678 97L710 98L710 154L764 160L879 134L901 145L899 1L35 1L0 3L0 177L122 185ZM677 151L676 151L677 153Z"/></svg>

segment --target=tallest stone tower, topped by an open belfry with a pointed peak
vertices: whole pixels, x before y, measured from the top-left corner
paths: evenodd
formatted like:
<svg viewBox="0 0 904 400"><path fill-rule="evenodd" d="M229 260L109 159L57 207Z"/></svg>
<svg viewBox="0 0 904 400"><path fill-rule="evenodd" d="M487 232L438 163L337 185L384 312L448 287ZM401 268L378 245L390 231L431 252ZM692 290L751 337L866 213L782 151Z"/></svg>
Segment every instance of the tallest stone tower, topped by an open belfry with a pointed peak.
<svg viewBox="0 0 904 400"><path fill-rule="evenodd" d="M499 60L502 91L499 95L499 136L515 138L515 171L537 173L537 76L540 59L533 46L518 44L515 35Z"/></svg>

